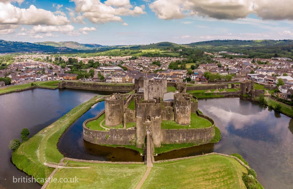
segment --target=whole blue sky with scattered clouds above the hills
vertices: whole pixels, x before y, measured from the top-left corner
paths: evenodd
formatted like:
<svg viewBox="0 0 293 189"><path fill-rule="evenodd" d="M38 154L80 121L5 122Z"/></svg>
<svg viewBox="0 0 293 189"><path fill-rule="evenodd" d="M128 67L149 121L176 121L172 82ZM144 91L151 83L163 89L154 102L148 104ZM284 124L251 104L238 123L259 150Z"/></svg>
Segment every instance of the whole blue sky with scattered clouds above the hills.
<svg viewBox="0 0 293 189"><path fill-rule="evenodd" d="M0 0L0 39L101 45L292 39L292 0Z"/></svg>

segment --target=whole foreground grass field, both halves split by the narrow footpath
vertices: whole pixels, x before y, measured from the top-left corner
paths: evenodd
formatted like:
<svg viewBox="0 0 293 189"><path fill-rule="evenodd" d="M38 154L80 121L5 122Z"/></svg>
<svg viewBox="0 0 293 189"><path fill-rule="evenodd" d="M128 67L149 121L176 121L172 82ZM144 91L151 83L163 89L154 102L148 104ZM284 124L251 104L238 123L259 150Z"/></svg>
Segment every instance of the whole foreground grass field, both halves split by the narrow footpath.
<svg viewBox="0 0 293 189"><path fill-rule="evenodd" d="M47 188L136 188L147 167L143 164L93 164L69 161L54 179L78 178L78 183L49 183ZM247 169L238 161L220 155L206 155L154 163L142 188L246 188L242 175Z"/></svg>

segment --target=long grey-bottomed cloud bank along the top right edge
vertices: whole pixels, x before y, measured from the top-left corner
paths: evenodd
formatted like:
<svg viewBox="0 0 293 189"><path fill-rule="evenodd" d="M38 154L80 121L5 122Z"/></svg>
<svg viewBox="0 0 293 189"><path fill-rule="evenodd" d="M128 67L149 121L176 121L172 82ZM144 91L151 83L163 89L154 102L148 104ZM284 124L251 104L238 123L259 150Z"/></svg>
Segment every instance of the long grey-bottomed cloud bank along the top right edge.
<svg viewBox="0 0 293 189"><path fill-rule="evenodd" d="M161 19L203 16L236 20L255 13L266 20L293 20L291 0L155 0L149 7Z"/></svg>

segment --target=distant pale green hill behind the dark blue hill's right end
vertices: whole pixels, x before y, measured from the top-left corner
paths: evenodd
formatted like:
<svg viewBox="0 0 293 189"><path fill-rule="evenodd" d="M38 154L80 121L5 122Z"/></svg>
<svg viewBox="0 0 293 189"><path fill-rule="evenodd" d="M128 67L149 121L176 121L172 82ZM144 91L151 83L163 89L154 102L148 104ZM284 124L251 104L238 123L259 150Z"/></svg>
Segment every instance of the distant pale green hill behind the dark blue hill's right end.
<svg viewBox="0 0 293 189"><path fill-rule="evenodd" d="M102 45L99 45L99 44L81 44L81 43L73 42L73 41L65 41L65 42L45 41L45 42L36 42L35 44L41 44L41 45L47 45L47 46L53 46L53 47L67 47L67 48L76 49L76 50L93 50L99 47L103 47Z"/></svg>

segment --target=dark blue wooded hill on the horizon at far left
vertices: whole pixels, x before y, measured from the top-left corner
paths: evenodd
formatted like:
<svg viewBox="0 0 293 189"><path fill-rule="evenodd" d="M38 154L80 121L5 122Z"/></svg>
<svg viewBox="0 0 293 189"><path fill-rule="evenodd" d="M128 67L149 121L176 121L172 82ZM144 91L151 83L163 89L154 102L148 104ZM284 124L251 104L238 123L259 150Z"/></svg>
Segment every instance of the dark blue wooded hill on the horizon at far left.
<svg viewBox="0 0 293 189"><path fill-rule="evenodd" d="M19 41L5 41L0 39L0 53L12 53L12 52L60 52L60 51L72 51L66 47L47 46L41 44L34 44L28 42Z"/></svg>

